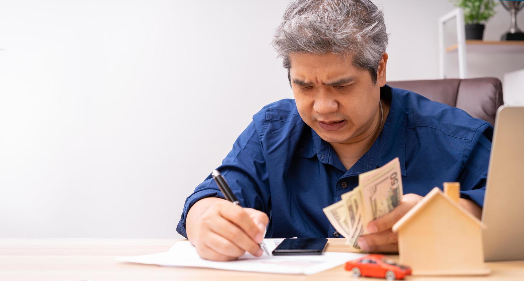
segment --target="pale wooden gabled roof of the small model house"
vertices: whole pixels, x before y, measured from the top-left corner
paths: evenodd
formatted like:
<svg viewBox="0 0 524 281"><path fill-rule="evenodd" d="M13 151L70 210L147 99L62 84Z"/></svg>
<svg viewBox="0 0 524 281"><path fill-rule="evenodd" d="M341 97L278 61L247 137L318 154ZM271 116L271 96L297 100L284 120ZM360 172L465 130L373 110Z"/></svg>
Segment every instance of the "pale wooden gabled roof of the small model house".
<svg viewBox="0 0 524 281"><path fill-rule="evenodd" d="M417 203L417 205L411 208L408 211L408 213L406 213L406 215L400 218L397 221L397 223L391 228L391 230L393 230L393 232L397 232L403 225L408 223L408 221L410 221L411 218L417 216L417 214L420 213L420 210L422 210L425 206L428 206L429 204L431 204L431 202L439 196L443 197L447 202L449 202L452 208L458 208L462 213L464 213L466 218L473 220L476 224L478 224L482 228L486 228L486 225L484 225L482 221L480 221L478 218L473 216L470 212L464 209L461 205L453 202L453 200L447 197L439 188L434 188L428 193L428 195L424 196L424 198L422 198L422 200L419 203Z"/></svg>

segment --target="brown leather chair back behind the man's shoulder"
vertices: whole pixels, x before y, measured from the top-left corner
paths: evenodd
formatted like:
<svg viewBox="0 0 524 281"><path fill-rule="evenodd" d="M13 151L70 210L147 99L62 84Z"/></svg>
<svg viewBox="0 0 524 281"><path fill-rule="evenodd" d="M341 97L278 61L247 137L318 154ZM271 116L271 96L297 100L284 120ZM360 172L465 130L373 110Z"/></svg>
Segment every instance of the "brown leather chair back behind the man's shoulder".
<svg viewBox="0 0 524 281"><path fill-rule="evenodd" d="M502 83L497 78L389 81L391 87L410 90L433 100L460 108L475 118L495 124L495 113L503 104Z"/></svg>

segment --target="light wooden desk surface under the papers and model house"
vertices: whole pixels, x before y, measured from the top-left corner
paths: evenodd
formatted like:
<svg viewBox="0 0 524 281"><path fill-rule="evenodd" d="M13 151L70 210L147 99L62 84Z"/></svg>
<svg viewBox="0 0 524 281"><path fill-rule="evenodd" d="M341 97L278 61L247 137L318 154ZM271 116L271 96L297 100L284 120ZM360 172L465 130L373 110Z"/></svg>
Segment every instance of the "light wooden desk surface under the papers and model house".
<svg viewBox="0 0 524 281"><path fill-rule="evenodd" d="M284 275L161 267L118 262L115 257L169 250L182 239L0 239L0 280L353 280L343 265L313 275ZM328 251L344 251L330 239ZM398 256L391 256L396 259ZM408 280L523 280L524 261L487 263L489 276L417 277ZM364 278L361 280L380 280ZM385 279L381 279L385 280Z"/></svg>

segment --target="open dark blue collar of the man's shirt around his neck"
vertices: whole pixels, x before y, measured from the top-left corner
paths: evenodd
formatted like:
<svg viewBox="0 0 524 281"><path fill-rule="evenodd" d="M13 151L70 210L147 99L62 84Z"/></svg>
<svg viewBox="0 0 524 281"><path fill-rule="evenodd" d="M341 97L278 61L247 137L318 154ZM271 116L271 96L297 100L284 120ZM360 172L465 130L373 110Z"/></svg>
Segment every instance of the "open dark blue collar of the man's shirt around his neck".
<svg viewBox="0 0 524 281"><path fill-rule="evenodd" d="M324 141L312 128L310 128L311 137L307 135L307 137L302 139L301 149L295 155L307 158L316 155L320 162L341 170L346 177L382 167L387 162L398 157L400 159L401 174L406 176L407 112L398 98L395 97L395 93L389 85L386 84L380 88L380 97L391 101L382 132L372 147L349 170L346 171L333 147Z"/></svg>

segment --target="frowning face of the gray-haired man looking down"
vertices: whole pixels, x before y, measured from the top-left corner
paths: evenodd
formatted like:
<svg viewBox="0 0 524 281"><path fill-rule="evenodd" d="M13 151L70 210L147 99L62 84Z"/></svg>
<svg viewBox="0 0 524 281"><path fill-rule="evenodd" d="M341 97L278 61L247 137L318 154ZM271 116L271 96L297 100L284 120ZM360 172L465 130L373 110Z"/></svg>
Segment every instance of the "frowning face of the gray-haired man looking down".
<svg viewBox="0 0 524 281"><path fill-rule="evenodd" d="M352 56L292 53L290 79L302 120L329 143L354 143L373 132L386 84L387 54L373 84L367 69L352 65Z"/></svg>

